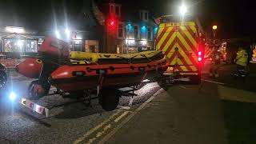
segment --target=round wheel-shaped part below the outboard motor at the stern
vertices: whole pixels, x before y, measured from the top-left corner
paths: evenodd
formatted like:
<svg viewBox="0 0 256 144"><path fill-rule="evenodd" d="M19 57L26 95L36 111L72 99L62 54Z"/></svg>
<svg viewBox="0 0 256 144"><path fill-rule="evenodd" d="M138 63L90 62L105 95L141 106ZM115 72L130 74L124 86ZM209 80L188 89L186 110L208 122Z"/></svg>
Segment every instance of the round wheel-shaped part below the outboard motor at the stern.
<svg viewBox="0 0 256 144"><path fill-rule="evenodd" d="M47 81L33 81L28 88L28 97L32 100L38 100L49 93L50 83Z"/></svg>

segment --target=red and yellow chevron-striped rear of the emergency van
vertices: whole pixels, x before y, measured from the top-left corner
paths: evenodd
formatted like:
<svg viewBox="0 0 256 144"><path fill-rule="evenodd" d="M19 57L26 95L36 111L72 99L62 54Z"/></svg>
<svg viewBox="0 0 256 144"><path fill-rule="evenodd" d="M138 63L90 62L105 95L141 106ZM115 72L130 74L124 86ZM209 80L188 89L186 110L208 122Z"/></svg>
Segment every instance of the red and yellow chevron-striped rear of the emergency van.
<svg viewBox="0 0 256 144"><path fill-rule="evenodd" d="M194 22L162 23L155 41L157 50L162 50L171 66L178 71L197 71L198 42ZM178 48L178 50L175 50Z"/></svg>

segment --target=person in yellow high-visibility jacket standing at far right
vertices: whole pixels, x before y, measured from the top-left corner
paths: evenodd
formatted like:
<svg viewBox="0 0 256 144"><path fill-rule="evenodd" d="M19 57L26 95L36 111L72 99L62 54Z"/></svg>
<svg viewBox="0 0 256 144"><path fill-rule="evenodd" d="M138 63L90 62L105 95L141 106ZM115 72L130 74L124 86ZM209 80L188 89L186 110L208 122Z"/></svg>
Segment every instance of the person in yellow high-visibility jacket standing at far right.
<svg viewBox="0 0 256 144"><path fill-rule="evenodd" d="M244 50L242 47L239 47L237 57L235 59L237 64L237 70L235 72L235 75L245 77L245 69L247 66L248 59L248 54L246 50Z"/></svg>

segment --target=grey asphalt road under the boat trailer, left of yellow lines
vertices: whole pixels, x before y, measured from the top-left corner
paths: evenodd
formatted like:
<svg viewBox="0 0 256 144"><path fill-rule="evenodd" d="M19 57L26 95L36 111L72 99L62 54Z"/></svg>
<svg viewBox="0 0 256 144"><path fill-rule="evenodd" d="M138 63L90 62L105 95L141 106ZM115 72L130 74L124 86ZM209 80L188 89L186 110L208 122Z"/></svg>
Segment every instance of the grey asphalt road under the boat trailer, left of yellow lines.
<svg viewBox="0 0 256 144"><path fill-rule="evenodd" d="M0 143L72 143L100 122L109 118L114 111L102 110L98 99L93 99L91 106L82 99L62 98L59 94L49 95L34 101L41 106L50 108L50 118L33 114L18 102L10 102L10 91L26 98L26 90L32 79L11 73L11 81L2 89L0 100ZM148 83L134 92L134 107L145 102L160 87L156 82ZM120 98L119 106L129 106L132 94L126 91ZM51 89L51 92L54 88Z"/></svg>

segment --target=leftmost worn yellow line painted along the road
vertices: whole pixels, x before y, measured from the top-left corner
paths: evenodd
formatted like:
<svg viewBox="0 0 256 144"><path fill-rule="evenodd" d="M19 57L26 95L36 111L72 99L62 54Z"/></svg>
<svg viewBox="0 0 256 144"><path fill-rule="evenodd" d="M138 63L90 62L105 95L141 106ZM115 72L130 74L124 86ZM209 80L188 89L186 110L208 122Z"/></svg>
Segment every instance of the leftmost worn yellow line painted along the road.
<svg viewBox="0 0 256 144"><path fill-rule="evenodd" d="M78 138L77 140L75 140L73 142L73 144L77 144L79 142L82 142L86 137L88 137L90 134L93 134L94 131L98 130L99 128L101 128L104 124L106 124L106 122L109 122L110 119L114 118L116 115L118 115L119 113L121 113L122 110L117 110L117 112L115 112L114 114L112 114L110 116L110 118L107 118L105 121L103 121L102 123L100 123L98 126L95 126L93 129L89 130L86 134L84 134L82 137Z"/></svg>

